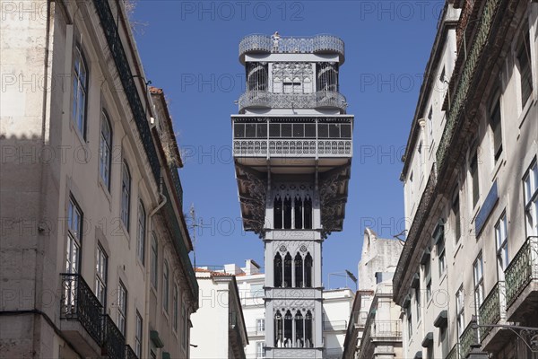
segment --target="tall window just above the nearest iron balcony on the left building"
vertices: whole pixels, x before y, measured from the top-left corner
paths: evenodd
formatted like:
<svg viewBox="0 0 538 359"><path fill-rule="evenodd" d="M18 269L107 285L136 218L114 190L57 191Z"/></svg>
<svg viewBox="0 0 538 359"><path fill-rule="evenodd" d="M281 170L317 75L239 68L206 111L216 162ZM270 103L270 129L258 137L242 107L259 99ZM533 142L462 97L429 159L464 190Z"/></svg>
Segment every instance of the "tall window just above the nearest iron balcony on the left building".
<svg viewBox="0 0 538 359"><path fill-rule="evenodd" d="M81 245L82 211L74 198L71 197L67 207L67 253L65 262L65 271L67 273L79 272Z"/></svg>

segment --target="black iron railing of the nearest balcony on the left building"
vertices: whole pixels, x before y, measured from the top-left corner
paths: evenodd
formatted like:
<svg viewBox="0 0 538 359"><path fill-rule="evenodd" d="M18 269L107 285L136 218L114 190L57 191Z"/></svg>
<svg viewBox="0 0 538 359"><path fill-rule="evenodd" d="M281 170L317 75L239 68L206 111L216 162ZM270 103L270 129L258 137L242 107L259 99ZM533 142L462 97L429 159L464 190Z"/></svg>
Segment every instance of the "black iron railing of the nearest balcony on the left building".
<svg viewBox="0 0 538 359"><path fill-rule="evenodd" d="M88 334L101 342L103 307L89 285L78 274L62 273L60 319L78 320Z"/></svg>

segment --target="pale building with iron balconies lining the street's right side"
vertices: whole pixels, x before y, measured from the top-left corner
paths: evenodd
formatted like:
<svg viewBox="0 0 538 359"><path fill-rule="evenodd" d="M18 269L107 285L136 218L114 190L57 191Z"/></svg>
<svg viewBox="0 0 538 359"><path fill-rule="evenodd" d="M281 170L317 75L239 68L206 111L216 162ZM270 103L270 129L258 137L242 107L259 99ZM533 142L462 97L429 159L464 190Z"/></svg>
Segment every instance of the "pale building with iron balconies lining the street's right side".
<svg viewBox="0 0 538 359"><path fill-rule="evenodd" d="M537 19L534 1L442 13L404 154L405 357L536 357Z"/></svg>

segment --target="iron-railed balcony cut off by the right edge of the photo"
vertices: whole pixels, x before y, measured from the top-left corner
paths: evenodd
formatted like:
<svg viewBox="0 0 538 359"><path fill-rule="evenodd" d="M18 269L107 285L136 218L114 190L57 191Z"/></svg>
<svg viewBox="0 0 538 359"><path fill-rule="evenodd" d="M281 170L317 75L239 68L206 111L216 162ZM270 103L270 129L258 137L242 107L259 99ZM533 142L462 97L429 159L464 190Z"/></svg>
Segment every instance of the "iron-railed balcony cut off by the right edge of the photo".
<svg viewBox="0 0 538 359"><path fill-rule="evenodd" d="M538 236L528 237L505 270L507 290L508 320L519 309L520 304L528 300L536 300L538 296ZM514 303L519 302L519 305ZM522 308L520 308L522 307Z"/></svg>

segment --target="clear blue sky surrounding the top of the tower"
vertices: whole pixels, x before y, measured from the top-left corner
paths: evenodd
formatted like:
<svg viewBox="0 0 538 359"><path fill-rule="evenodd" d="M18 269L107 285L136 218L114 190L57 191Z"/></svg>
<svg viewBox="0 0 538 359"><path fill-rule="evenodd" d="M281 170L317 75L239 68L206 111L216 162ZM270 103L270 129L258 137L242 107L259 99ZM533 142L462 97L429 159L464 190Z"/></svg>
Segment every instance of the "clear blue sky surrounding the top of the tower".
<svg viewBox="0 0 538 359"><path fill-rule="evenodd" d="M404 230L400 158L443 3L137 1L144 71L164 89L184 156L184 211L194 203L203 221L197 265L264 262L263 242L241 228L230 153L230 114L244 91L239 40L251 33L330 33L345 42L340 91L355 115L354 154L343 232L324 242L325 287L329 273L357 274L365 226L385 238ZM343 285L331 276L331 287Z"/></svg>

